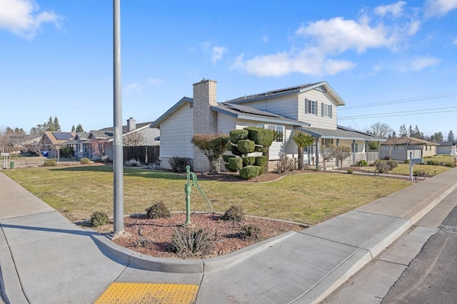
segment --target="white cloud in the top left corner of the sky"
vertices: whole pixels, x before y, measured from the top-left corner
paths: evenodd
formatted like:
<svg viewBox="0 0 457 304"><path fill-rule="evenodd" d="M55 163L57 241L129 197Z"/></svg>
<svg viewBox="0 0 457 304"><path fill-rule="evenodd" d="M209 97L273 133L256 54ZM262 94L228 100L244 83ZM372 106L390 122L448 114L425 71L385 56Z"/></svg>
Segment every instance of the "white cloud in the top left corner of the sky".
<svg viewBox="0 0 457 304"><path fill-rule="evenodd" d="M61 17L52 11L39 12L33 0L0 0L0 30L31 39L44 23L59 27Z"/></svg>

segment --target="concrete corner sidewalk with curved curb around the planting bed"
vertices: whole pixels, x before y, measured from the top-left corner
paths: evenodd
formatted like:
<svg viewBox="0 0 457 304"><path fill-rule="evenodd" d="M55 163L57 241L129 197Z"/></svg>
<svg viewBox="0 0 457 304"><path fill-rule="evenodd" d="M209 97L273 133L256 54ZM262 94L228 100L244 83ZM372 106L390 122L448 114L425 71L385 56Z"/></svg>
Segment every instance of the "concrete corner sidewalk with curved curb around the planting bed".
<svg viewBox="0 0 457 304"><path fill-rule="evenodd" d="M14 304L94 303L113 282L195 284L196 303L318 303L456 187L451 169L301 232L180 261L84 231L0 172L0 289Z"/></svg>

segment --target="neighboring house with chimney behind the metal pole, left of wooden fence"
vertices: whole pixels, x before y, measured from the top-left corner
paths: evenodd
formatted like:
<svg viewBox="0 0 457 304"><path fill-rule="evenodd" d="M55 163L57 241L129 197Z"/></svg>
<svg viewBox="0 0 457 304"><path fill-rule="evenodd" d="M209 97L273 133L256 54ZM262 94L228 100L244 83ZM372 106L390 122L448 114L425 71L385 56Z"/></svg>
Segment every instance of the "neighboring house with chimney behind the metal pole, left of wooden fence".
<svg viewBox="0 0 457 304"><path fill-rule="evenodd" d="M127 125L122 126L122 140L124 146L156 146L159 142L159 129L151 128L152 122L136 123L133 117L127 120ZM114 127L101 130L91 130L84 143L88 148L88 157L92 160L113 160L114 155ZM81 140L81 142L83 142Z"/></svg>

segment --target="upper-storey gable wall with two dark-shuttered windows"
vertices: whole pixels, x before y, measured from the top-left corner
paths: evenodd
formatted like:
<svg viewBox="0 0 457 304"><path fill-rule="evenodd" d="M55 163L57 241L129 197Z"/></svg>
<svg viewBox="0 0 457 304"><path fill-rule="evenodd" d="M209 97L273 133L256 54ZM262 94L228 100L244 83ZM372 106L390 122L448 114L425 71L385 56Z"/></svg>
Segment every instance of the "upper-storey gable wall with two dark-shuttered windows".
<svg viewBox="0 0 457 304"><path fill-rule="evenodd" d="M306 98L308 100L316 101L316 114L306 113ZM322 117L321 104L331 105L331 117ZM336 104L333 100L329 99L325 93L318 90L309 90L305 93L298 95L298 120L308 122L311 127L318 127L321 129L336 130Z"/></svg>

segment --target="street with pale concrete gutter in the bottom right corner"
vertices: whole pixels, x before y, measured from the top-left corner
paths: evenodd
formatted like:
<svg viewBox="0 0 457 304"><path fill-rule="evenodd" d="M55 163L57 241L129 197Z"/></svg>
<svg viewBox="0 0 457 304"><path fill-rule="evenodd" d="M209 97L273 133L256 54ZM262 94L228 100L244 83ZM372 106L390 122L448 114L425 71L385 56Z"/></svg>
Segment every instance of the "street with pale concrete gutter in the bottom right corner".
<svg viewBox="0 0 457 304"><path fill-rule="evenodd" d="M457 191L323 303L457 303Z"/></svg>

